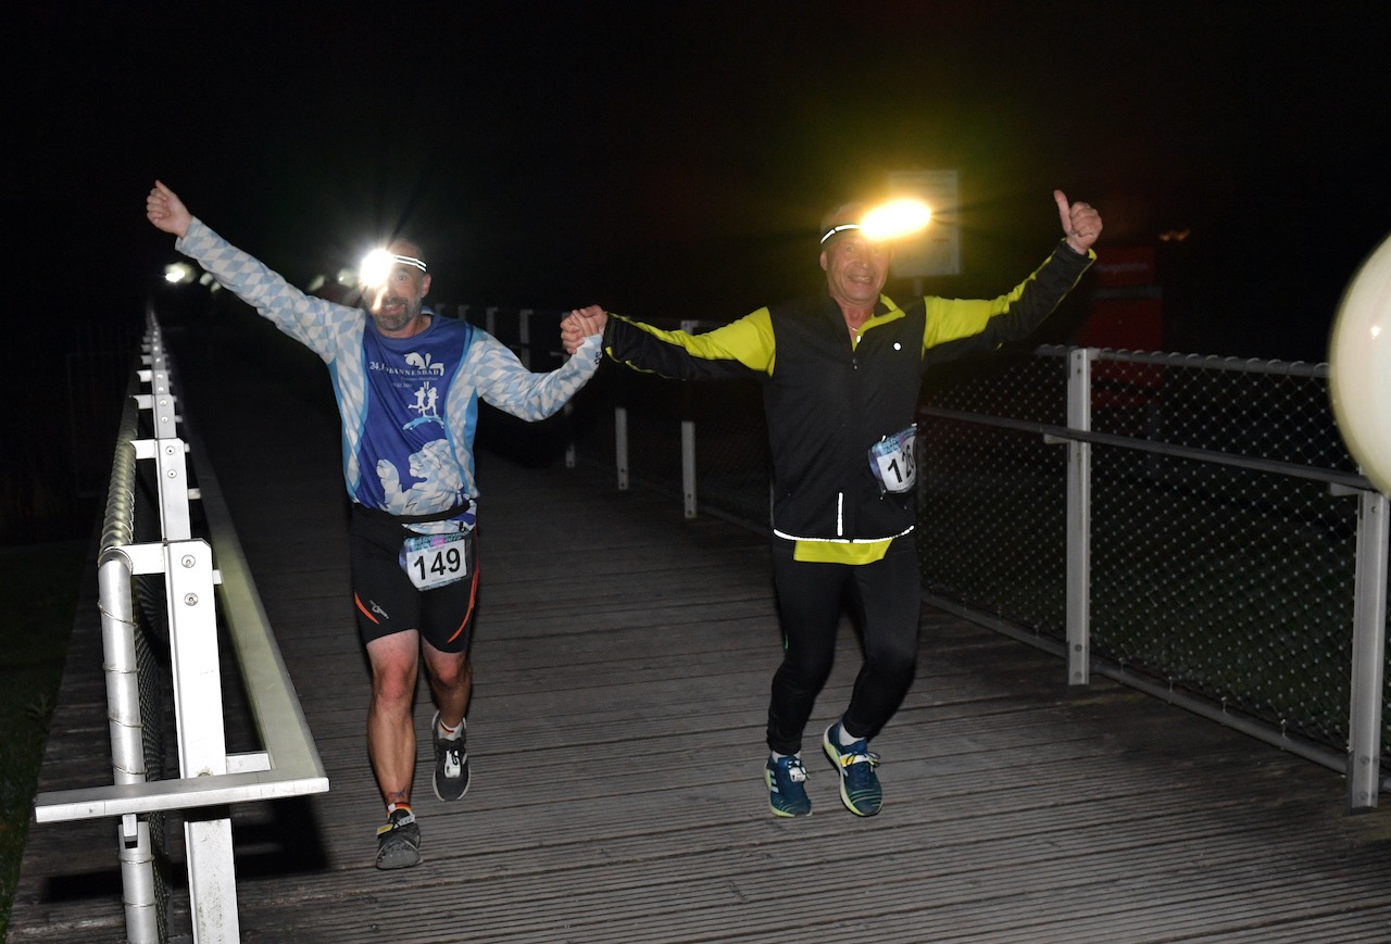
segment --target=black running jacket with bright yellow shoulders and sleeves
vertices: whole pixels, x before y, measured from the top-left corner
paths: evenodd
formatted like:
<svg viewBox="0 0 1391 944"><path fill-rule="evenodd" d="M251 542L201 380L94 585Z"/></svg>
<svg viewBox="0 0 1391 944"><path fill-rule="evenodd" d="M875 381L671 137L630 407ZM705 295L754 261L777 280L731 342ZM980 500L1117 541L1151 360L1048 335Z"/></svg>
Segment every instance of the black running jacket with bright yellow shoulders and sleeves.
<svg viewBox="0 0 1391 944"><path fill-rule="evenodd" d="M773 459L773 532L798 546L887 546L912 531L914 499L911 492L881 494L868 453L914 421L925 363L1027 336L1095 257L1060 243L996 299L929 296L900 309L881 295L857 336L840 306L822 295L762 307L698 335L611 314L604 349L619 363L664 377L758 380ZM843 551L850 553L835 558L855 558Z"/></svg>

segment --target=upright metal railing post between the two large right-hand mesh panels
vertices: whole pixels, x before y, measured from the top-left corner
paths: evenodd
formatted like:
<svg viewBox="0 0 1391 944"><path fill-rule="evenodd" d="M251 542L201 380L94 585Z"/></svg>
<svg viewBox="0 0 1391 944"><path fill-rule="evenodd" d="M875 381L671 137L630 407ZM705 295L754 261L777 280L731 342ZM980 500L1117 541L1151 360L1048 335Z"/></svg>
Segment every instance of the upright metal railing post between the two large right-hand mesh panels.
<svg viewBox="0 0 1391 944"><path fill-rule="evenodd" d="M1067 427L1092 430L1092 360L1095 348L1068 355ZM1092 443L1067 446L1067 683L1092 678Z"/></svg>

